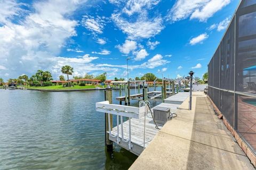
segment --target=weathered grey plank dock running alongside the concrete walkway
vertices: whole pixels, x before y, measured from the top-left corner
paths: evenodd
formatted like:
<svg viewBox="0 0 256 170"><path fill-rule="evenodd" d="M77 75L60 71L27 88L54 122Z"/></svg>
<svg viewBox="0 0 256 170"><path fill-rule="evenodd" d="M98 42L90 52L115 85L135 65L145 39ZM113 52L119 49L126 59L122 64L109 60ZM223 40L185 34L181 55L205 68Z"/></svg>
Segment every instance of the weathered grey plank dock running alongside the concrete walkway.
<svg viewBox="0 0 256 170"><path fill-rule="evenodd" d="M154 92L154 91L152 91ZM161 93L161 91L159 91ZM142 94L141 94L142 95ZM137 95L138 96L138 95ZM172 103L161 103L158 106L170 108L171 113L175 113L178 109L178 107L181 105L183 101L186 100L186 98L189 96L189 93L187 92L179 92L177 95L171 96L167 99L168 101L171 101ZM156 106L157 107L157 106ZM152 110L154 108L151 108ZM152 111L153 112L153 111ZM115 143L117 143L119 146L131 151L135 155L140 155L143 151L144 146L144 121L145 116L142 116L140 118L131 118L131 144L132 147L128 145L127 142L123 142L122 140L119 140L117 142L116 137L109 136L109 139ZM158 126L159 128L162 128L161 125ZM113 130L111 131L111 134L117 135L117 131L120 131L121 125L115 126ZM156 129L156 125L154 124L153 118L151 117L151 114L148 113L146 116L146 132L145 132L145 148L149 145L150 141L153 140L155 135L157 134L159 130ZM129 121L125 121L123 123L123 138L125 140L129 139ZM122 138L122 134L119 132L119 138Z"/></svg>

